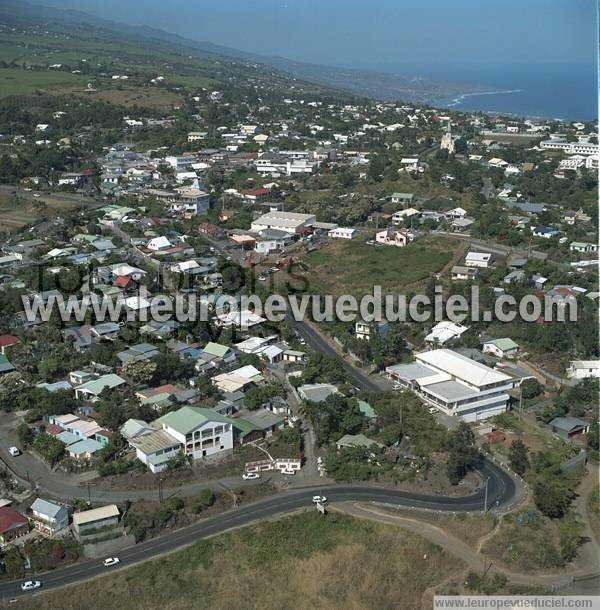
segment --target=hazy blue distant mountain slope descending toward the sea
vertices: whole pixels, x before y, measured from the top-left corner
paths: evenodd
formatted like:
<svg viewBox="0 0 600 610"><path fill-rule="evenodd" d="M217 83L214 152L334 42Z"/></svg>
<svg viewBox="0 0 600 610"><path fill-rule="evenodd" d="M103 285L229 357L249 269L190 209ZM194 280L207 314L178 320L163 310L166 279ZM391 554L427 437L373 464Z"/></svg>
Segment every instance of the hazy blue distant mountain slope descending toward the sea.
<svg viewBox="0 0 600 610"><path fill-rule="evenodd" d="M293 61L285 57L257 55L208 41L195 41L148 26L133 26L94 17L76 10L33 5L22 0L1 0L0 23L15 27L44 25L48 31L85 33L88 40L118 42L124 37L140 45L158 45L164 50L250 61L270 66L294 78L347 91L354 95L386 101L434 103L441 98L485 91L486 87L406 77L370 70L345 69Z"/></svg>

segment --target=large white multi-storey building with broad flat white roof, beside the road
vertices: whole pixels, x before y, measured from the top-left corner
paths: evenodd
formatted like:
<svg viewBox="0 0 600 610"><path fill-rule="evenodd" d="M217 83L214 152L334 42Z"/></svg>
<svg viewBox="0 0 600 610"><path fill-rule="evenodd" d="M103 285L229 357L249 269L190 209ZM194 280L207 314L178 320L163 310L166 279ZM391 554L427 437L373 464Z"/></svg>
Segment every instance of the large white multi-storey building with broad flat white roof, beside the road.
<svg viewBox="0 0 600 610"><path fill-rule="evenodd" d="M508 410L517 380L449 349L416 355L413 364L386 369L388 377L448 415L475 422Z"/></svg>

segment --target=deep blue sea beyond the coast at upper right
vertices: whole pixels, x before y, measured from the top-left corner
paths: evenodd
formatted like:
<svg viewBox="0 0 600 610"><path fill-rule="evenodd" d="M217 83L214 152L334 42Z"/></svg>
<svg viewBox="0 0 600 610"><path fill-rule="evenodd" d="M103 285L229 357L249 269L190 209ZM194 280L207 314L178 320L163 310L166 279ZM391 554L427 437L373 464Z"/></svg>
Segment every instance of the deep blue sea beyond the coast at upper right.
<svg viewBox="0 0 600 610"><path fill-rule="evenodd" d="M483 95L438 100L435 104L438 107L569 121L598 118L595 61L587 64L400 63L371 67L405 76L473 83L489 88Z"/></svg>

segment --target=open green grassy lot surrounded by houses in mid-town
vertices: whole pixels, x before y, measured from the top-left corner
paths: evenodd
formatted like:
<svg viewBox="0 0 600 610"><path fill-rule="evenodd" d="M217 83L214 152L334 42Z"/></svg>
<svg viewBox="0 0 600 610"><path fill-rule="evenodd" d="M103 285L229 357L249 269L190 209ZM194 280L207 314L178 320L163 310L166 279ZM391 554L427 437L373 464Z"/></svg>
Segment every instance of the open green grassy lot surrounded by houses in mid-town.
<svg viewBox="0 0 600 610"><path fill-rule="evenodd" d="M383 293L415 289L451 261L455 240L426 236L406 248L368 245L363 240L333 241L304 257L310 291L361 297L381 286Z"/></svg>

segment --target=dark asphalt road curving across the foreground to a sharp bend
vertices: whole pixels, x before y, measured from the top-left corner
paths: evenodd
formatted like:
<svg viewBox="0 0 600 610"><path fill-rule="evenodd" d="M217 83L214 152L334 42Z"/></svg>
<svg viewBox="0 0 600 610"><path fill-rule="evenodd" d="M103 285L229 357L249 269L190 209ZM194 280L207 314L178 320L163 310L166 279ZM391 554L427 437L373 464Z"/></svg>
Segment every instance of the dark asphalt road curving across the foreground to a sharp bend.
<svg viewBox="0 0 600 610"><path fill-rule="evenodd" d="M489 479L487 490L488 507L496 505L496 503L501 506L510 504L516 492L513 479L498 466L487 461L484 463L481 474L484 478ZM351 485L294 490L283 492L251 504L242 505L238 508L232 508L220 515L172 532L167 532L158 538L129 547L119 553L119 559L121 560L119 568L152 559L163 553L185 547L199 539L214 536L232 528L283 515L301 508L309 508L313 506L312 497L315 494L325 495L329 502L377 501L413 508L430 508L447 511L483 510L485 503L485 488L483 487L475 494L466 497L433 496L379 487ZM42 582L42 589L47 590L72 585L106 574L110 570L111 568L105 568L102 565L101 559L93 559L28 578L40 580ZM21 591L21 582L12 581L0 584L0 596L6 600L20 595L31 595Z"/></svg>

